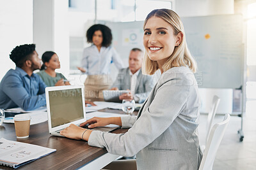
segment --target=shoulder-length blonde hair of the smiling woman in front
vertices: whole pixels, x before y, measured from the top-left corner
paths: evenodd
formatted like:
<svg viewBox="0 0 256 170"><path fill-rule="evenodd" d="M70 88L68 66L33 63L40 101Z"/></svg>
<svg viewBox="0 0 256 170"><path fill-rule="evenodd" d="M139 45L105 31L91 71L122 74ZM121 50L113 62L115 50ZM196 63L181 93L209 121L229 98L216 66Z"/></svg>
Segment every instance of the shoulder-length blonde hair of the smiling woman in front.
<svg viewBox="0 0 256 170"><path fill-rule="evenodd" d="M143 25L143 29L145 29L145 25L147 24L148 19L151 17L162 18L165 22L172 25L175 36L177 36L179 32L182 32L183 34L183 38L179 46L175 46L172 55L162 67L163 71L166 71L172 67L188 66L189 69L191 69L191 71L195 73L197 68L196 61L195 59L193 59L191 53L188 50L184 27L179 15L177 15L177 13L175 13L174 11L168 9L153 10L147 15ZM160 69L157 61L150 60L147 52L145 52L142 68L143 73L152 75L157 71L157 69Z"/></svg>

